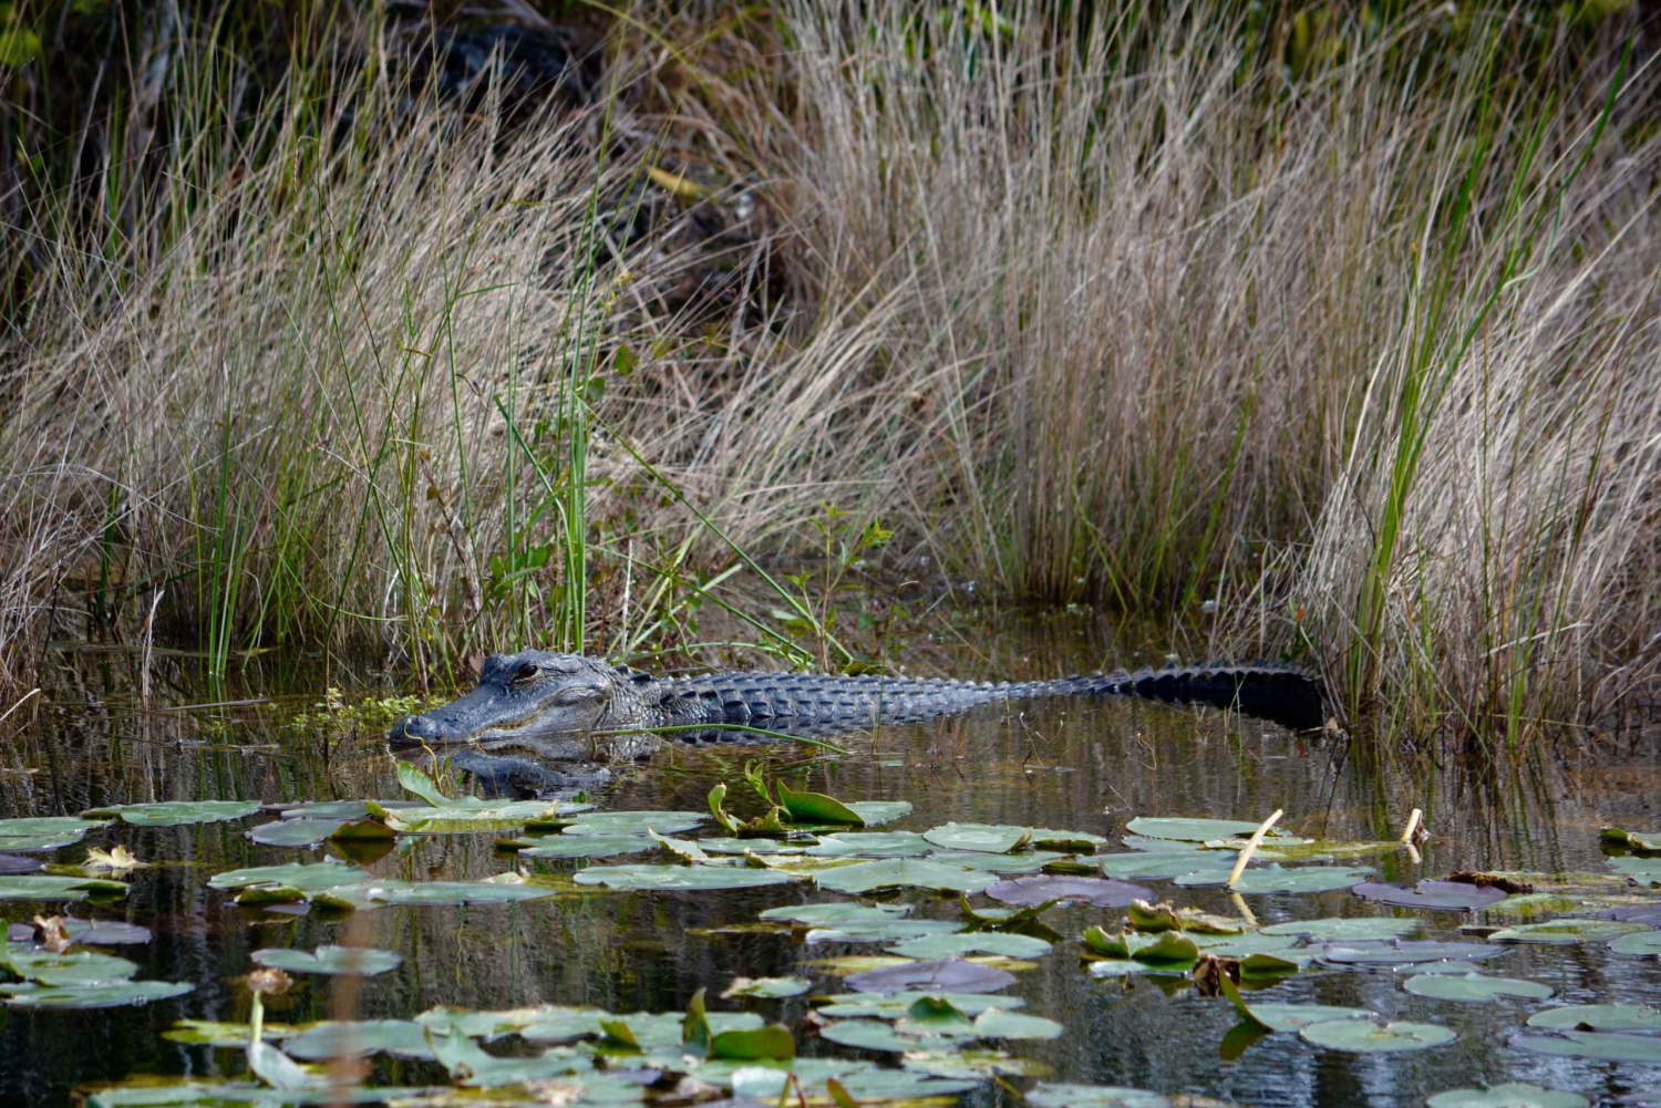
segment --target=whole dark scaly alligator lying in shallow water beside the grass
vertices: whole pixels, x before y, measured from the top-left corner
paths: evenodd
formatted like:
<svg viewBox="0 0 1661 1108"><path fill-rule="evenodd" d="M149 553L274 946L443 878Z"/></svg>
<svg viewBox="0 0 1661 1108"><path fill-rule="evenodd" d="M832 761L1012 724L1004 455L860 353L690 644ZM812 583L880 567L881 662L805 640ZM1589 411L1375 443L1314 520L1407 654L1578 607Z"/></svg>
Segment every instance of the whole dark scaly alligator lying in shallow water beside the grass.
<svg viewBox="0 0 1661 1108"><path fill-rule="evenodd" d="M1320 683L1277 663L1208 663L1013 683L762 671L654 678L583 655L527 650L488 656L475 689L434 711L405 716L394 724L389 741L394 749L465 746L487 754L528 751L548 761L603 764L651 754L664 738L681 743L814 738L1050 696L1214 704L1294 731L1319 728L1325 718Z"/></svg>

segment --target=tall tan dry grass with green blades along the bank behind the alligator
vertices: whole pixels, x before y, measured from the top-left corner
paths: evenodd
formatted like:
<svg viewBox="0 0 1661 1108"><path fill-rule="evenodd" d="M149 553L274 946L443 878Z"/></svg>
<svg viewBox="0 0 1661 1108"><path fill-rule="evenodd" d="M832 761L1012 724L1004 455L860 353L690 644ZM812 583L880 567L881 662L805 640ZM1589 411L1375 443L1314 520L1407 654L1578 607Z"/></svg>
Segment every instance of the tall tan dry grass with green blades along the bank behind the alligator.
<svg viewBox="0 0 1661 1108"><path fill-rule="evenodd" d="M1334 18L1289 66L1227 5L990 12L789 3L694 35L728 73L661 23L517 128L374 27L251 111L184 35L143 199L13 229L47 264L0 369L0 664L161 590L224 658L638 651L830 502L1309 659L1397 733L1521 743L1653 683L1661 141L1621 27ZM689 120L664 164L766 224L630 241ZM729 286L676 296L713 254Z"/></svg>

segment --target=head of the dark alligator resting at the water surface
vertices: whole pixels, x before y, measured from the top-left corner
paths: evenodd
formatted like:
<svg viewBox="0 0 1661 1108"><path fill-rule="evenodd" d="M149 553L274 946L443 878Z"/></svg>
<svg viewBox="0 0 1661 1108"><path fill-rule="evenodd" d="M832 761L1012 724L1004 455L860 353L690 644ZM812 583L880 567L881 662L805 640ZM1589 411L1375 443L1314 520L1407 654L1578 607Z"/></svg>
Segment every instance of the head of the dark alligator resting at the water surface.
<svg viewBox="0 0 1661 1108"><path fill-rule="evenodd" d="M470 744L483 751L528 749L541 757L586 757L586 733L605 729L625 679L583 658L527 650L490 655L478 686L443 708L392 726L397 749Z"/></svg>

